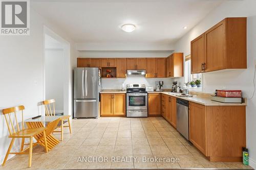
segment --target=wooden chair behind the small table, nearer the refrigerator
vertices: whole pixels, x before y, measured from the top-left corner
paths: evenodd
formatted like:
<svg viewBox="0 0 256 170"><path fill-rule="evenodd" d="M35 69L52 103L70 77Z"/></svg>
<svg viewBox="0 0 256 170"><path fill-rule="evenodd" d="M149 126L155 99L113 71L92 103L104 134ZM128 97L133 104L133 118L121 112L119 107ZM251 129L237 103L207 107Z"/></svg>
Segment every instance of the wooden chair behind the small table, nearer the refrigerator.
<svg viewBox="0 0 256 170"><path fill-rule="evenodd" d="M55 116L55 100L50 99L50 100L47 100L47 101L43 101L42 103L45 106L46 115L47 116ZM52 107L53 107L53 109L52 109ZM61 132L61 140L63 140L63 128L64 127L69 127L69 131L71 133L71 126L70 126L70 120L69 120L70 117L71 117L70 115L61 116L60 117L61 125L57 127L57 128L60 128L61 130L60 131L53 131L53 132ZM69 123L68 126L63 126L63 121L64 120L68 120L68 123Z"/></svg>

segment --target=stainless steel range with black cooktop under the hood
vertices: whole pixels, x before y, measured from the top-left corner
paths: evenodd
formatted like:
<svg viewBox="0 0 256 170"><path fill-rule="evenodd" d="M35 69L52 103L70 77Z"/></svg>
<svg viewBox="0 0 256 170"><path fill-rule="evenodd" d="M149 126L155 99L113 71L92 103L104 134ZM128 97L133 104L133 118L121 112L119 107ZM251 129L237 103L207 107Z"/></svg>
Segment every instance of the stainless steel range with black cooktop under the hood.
<svg viewBox="0 0 256 170"><path fill-rule="evenodd" d="M147 117L147 92L144 84L126 85L126 116Z"/></svg>

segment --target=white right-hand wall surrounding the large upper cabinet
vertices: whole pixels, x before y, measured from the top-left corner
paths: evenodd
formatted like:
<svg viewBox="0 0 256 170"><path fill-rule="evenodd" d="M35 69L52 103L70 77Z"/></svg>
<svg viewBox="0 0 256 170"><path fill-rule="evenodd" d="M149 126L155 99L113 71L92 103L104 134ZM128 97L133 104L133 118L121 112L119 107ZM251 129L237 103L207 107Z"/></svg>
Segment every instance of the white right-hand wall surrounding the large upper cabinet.
<svg viewBox="0 0 256 170"><path fill-rule="evenodd" d="M175 44L175 51L190 54L190 41L214 26L225 17L247 16L247 69L209 72L203 74L203 91L214 92L215 89L241 89L247 98L253 92L254 61L256 60L256 1L226 1L210 12L198 25L191 29ZM248 101L246 107L247 147L249 163L256 168L256 96Z"/></svg>

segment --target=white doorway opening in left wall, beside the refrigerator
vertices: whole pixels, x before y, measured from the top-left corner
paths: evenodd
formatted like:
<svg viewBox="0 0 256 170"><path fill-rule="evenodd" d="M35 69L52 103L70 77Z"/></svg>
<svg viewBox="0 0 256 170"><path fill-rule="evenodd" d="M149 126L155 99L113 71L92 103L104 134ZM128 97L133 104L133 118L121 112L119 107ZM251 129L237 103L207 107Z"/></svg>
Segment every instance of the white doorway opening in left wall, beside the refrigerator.
<svg viewBox="0 0 256 170"><path fill-rule="evenodd" d="M70 43L44 26L44 100L55 100L57 115L71 115Z"/></svg>

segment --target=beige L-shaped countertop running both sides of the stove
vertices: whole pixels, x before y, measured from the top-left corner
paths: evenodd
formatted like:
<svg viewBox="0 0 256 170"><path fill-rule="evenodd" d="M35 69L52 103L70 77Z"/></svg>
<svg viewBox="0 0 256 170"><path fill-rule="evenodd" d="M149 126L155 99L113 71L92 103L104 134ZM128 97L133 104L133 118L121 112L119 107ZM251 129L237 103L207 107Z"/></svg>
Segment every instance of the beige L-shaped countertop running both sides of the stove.
<svg viewBox="0 0 256 170"><path fill-rule="evenodd" d="M120 89L111 89L111 90L102 90L100 93L126 93L126 91L121 91ZM197 93L193 97L180 97L175 94L169 94L167 91L148 91L148 93L162 93L169 96L173 96L175 98L183 99L189 102L198 103L205 106L247 106L247 100L245 99L245 103L221 103L211 101L210 94L208 93Z"/></svg>

